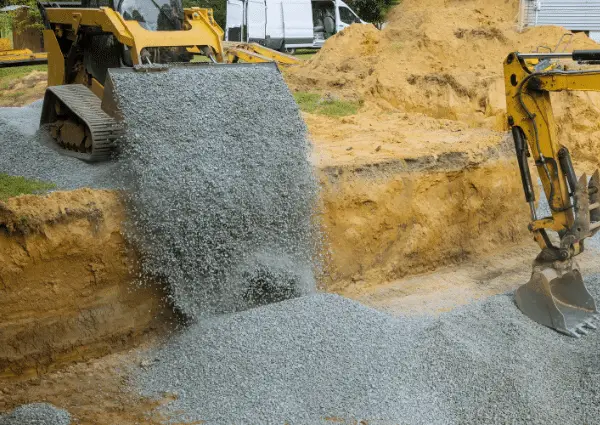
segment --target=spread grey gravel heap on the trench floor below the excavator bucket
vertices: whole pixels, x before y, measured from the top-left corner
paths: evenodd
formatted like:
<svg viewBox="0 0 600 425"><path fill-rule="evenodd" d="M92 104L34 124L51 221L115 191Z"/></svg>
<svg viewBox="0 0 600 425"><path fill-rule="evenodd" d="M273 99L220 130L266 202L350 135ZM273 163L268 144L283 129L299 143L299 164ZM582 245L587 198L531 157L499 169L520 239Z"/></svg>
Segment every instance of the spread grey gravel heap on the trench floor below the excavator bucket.
<svg viewBox="0 0 600 425"><path fill-rule="evenodd" d="M600 295L600 276L588 282ZM598 332L539 326L512 294L436 318L311 295L191 326L148 354L137 384L178 396L174 422L594 424L599 349Z"/></svg>

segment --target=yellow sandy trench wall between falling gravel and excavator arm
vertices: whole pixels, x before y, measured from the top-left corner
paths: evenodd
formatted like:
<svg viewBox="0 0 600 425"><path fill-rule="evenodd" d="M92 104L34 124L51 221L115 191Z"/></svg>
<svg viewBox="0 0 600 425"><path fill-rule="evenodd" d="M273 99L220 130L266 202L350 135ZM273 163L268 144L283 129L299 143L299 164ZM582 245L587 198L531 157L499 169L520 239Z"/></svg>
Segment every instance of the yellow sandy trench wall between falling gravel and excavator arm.
<svg viewBox="0 0 600 425"><path fill-rule="evenodd" d="M324 286L364 289L522 243L522 191L507 158L450 171L388 165L326 176Z"/></svg>

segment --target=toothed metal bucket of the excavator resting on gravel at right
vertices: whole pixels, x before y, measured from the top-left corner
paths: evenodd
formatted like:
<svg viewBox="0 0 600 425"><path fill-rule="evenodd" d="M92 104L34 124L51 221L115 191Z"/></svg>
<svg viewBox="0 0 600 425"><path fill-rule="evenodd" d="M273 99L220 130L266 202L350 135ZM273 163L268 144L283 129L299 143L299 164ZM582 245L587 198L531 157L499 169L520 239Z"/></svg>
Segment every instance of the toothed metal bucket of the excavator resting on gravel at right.
<svg viewBox="0 0 600 425"><path fill-rule="evenodd" d="M563 334L579 337L596 329L596 303L576 265L566 270L534 267L529 282L517 289L515 301L530 319Z"/></svg>

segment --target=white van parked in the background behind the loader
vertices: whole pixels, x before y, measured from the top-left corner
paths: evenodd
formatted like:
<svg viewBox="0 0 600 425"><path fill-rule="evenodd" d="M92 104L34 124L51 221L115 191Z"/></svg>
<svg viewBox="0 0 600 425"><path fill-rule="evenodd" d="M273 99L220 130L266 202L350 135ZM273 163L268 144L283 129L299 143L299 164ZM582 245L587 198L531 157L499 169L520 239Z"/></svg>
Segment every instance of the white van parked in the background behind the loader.
<svg viewBox="0 0 600 425"><path fill-rule="evenodd" d="M227 0L225 39L293 53L353 23L366 22L341 0Z"/></svg>

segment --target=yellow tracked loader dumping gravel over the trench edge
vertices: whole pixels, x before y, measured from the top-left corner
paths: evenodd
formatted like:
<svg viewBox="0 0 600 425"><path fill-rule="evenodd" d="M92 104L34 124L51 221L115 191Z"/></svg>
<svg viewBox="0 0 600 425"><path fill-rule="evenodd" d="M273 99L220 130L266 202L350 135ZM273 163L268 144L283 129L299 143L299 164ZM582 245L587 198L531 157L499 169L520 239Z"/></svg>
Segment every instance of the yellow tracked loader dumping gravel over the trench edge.
<svg viewBox="0 0 600 425"><path fill-rule="evenodd" d="M40 127L55 149L87 162L110 159L123 133L110 70L168 72L170 66L239 66L221 65L227 60L294 59L262 46L224 50L212 10L184 9L182 0L40 1L38 7L48 56ZM193 63L198 56L209 63Z"/></svg>

